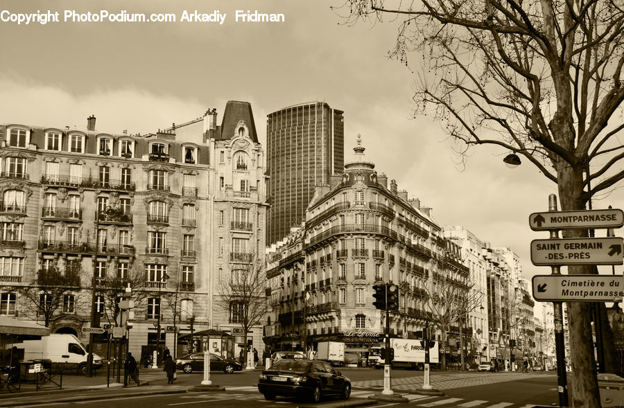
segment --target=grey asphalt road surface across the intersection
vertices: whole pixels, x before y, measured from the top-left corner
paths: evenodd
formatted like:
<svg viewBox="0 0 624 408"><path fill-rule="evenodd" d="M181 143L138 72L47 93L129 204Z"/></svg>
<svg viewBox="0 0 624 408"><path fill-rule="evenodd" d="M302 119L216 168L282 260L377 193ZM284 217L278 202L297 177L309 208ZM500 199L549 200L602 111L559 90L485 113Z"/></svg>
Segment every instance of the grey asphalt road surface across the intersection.
<svg viewBox="0 0 624 408"><path fill-rule="evenodd" d="M352 380L352 399L367 398L383 389L383 371L372 369L343 369L343 374ZM259 371L234 373L212 373L214 384L222 385L225 392L184 392L168 395L117 396L107 398L107 391L99 400L80 402L53 402L49 398L41 399L38 405L30 407L89 407L111 408L116 405L132 408L195 408L195 407L284 407L306 405L305 401L294 398L278 398L267 401L257 391ZM152 385L141 389L179 389L184 391L202 380L201 373L180 373L173 385L166 384L164 373L142 373L141 379L149 380ZM445 396L421 396L417 391L422 386L422 372L392 371L392 389L408 398L403 407L418 408L528 408L534 405L551 405L557 402L557 377L555 373L431 373L431 384L445 393ZM127 389L128 390L128 389ZM318 406L336 402L333 399L322 401ZM376 407L389 407L388 402L379 402ZM19 405L16 405L19 407Z"/></svg>

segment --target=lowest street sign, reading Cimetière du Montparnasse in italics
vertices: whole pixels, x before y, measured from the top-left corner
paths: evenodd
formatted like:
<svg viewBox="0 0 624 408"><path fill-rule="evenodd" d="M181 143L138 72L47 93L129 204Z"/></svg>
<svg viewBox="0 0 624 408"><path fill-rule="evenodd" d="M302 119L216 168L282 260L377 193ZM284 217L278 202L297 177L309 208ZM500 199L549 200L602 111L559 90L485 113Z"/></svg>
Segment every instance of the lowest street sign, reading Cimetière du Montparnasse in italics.
<svg viewBox="0 0 624 408"><path fill-rule="evenodd" d="M535 275L532 286L540 302L612 302L624 296L622 275Z"/></svg>

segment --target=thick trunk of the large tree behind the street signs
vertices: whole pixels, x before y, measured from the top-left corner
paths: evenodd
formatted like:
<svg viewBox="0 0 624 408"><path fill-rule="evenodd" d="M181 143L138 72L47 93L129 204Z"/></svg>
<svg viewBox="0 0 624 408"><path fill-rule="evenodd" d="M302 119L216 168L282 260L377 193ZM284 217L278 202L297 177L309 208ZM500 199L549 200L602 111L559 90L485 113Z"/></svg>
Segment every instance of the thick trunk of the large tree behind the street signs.
<svg viewBox="0 0 624 408"><path fill-rule="evenodd" d="M557 171L559 199L562 211L585 208L583 193L582 166L573 168L568 163L560 163ZM564 238L587 237L587 229L564 230ZM569 274L591 274L592 265L569 266ZM589 303L566 302L568 312L568 332L570 339L570 360L572 366L569 389L569 405L573 407L600 408L600 394L596 379L596 360L593 356L591 335L591 307Z"/></svg>

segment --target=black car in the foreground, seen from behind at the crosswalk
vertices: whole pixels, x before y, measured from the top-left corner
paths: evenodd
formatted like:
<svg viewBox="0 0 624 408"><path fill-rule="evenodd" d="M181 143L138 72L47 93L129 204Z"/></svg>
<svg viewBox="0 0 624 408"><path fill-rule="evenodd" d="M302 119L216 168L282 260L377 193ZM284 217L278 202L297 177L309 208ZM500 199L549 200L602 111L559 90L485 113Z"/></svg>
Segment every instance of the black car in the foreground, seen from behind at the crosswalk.
<svg viewBox="0 0 624 408"><path fill-rule="evenodd" d="M310 398L318 402L321 396L351 396L351 380L319 360L279 360L262 371L258 390L267 400L276 396Z"/></svg>

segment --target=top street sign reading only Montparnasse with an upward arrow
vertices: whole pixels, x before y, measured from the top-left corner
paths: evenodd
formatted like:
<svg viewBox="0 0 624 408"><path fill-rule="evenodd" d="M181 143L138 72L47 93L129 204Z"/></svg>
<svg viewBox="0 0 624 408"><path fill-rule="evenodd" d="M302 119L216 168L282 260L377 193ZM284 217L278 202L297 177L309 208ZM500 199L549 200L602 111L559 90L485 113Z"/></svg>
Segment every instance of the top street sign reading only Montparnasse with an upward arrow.
<svg viewBox="0 0 624 408"><path fill-rule="evenodd" d="M529 215L533 231L569 228L619 228L624 225L624 211L620 209L546 211Z"/></svg>

